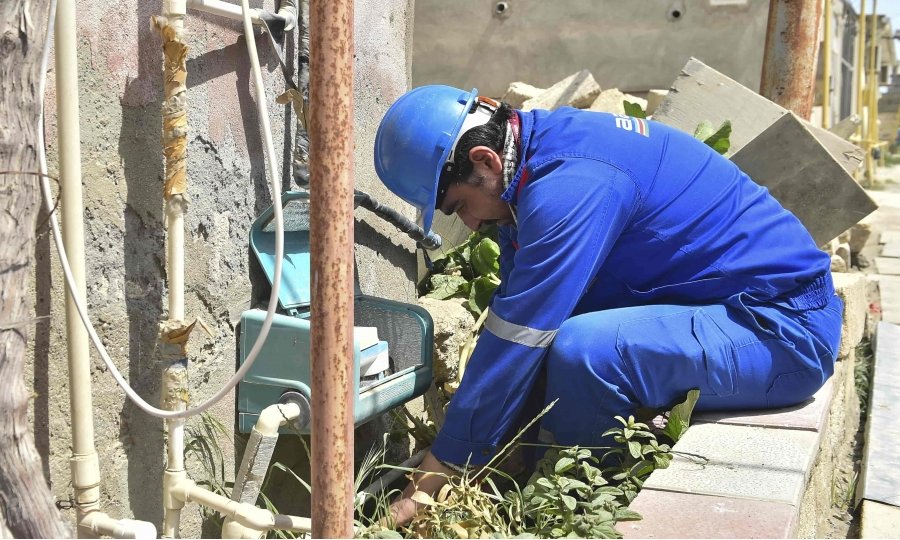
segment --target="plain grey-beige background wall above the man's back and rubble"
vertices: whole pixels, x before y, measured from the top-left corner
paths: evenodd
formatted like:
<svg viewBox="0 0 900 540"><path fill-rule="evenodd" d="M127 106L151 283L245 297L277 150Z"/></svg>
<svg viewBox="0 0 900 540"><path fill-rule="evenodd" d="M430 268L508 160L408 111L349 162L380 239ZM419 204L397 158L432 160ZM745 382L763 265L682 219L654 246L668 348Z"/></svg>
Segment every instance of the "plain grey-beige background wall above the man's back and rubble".
<svg viewBox="0 0 900 540"><path fill-rule="evenodd" d="M500 12L501 7L503 8ZM765 0L418 0L413 86L500 96L589 69L603 88L668 88L690 56L759 87Z"/></svg>

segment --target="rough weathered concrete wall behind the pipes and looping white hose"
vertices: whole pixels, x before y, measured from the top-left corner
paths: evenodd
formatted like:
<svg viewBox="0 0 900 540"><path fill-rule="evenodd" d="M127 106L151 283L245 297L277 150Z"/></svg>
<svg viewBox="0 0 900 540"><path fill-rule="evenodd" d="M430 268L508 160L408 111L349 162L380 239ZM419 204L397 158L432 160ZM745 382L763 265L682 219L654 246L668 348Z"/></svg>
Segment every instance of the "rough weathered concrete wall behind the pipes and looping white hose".
<svg viewBox="0 0 900 540"><path fill-rule="evenodd" d="M159 400L162 368L155 354L157 324L167 316L160 146L162 53L161 41L150 29L150 16L159 13L161 4L160 0L78 2L89 309L117 365L151 403ZM251 4L261 5L258 0ZM412 0L361 0L356 3L354 21L357 187L408 211L378 182L371 148L381 115L408 87L411 4ZM273 8L272 0L266 0L265 7ZM191 340L191 390L196 403L212 395L233 374L235 324L251 302L267 298L264 277L251 272L247 234L251 221L269 206L271 197L241 25L191 13L186 27L192 201L185 221L186 312L188 317L202 317L216 333L214 338L197 333ZM289 58L296 57L295 39L296 35L288 40ZM282 184L287 188L294 119L286 107L274 104L284 83L267 38L258 38L257 47L284 169ZM54 85L51 72L47 119L52 169L56 161ZM411 211L408 215L413 216ZM357 218L357 263L363 291L413 300L412 242L363 210ZM34 435L46 457L45 474L54 495L68 500L72 493L68 464L71 414L63 279L48 234L40 234L35 256L37 314L49 319L36 328L31 358ZM162 421L125 401L93 350L91 358L102 506L116 517L134 516L159 524ZM223 440L226 479L233 477L235 446L240 451L240 442L231 433L234 407L232 396L213 411L229 431ZM189 425L197 422L194 418ZM379 430L377 426L369 429ZM296 438L283 439L279 452L291 456L292 464L302 468L302 446ZM189 469L195 478L204 478L196 461L189 463ZM282 499L297 500L292 495L298 489L296 483L284 489L289 493L281 494ZM74 512L66 515L73 518ZM184 537L201 533L195 505L189 505L184 524Z"/></svg>

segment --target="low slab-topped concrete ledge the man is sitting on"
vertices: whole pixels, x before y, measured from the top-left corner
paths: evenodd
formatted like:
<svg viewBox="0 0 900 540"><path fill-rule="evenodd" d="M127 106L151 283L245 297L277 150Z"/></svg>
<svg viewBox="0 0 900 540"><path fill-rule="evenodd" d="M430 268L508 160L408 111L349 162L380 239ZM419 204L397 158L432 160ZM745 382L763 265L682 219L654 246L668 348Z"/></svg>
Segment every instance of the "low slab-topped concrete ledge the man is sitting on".
<svg viewBox="0 0 900 540"><path fill-rule="evenodd" d="M834 376L794 407L697 413L672 464L632 502L643 519L616 526L625 538L822 536L859 426L854 367L868 309L862 274L834 277L845 310Z"/></svg>

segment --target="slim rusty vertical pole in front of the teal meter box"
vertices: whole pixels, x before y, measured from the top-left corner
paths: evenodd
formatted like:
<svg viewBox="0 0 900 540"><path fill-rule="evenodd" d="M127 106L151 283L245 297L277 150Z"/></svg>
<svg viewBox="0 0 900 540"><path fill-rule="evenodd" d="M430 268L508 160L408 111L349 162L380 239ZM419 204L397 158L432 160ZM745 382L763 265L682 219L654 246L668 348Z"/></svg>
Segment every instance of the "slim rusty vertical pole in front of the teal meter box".
<svg viewBox="0 0 900 540"><path fill-rule="evenodd" d="M353 0L310 2L312 535L353 537Z"/></svg>

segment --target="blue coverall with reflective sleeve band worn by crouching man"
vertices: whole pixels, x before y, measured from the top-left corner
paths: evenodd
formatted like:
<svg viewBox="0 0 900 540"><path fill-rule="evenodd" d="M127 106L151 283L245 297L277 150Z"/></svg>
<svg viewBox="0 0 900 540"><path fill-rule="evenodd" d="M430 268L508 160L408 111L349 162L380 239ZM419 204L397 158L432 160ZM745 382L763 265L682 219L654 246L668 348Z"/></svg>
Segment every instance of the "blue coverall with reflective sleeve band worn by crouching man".
<svg viewBox="0 0 900 540"><path fill-rule="evenodd" d="M615 415L692 388L698 410L781 407L832 375L830 258L765 188L663 124L516 114L517 225L500 228L501 285L435 457L488 462L536 387L559 400L542 432L597 445Z"/></svg>

